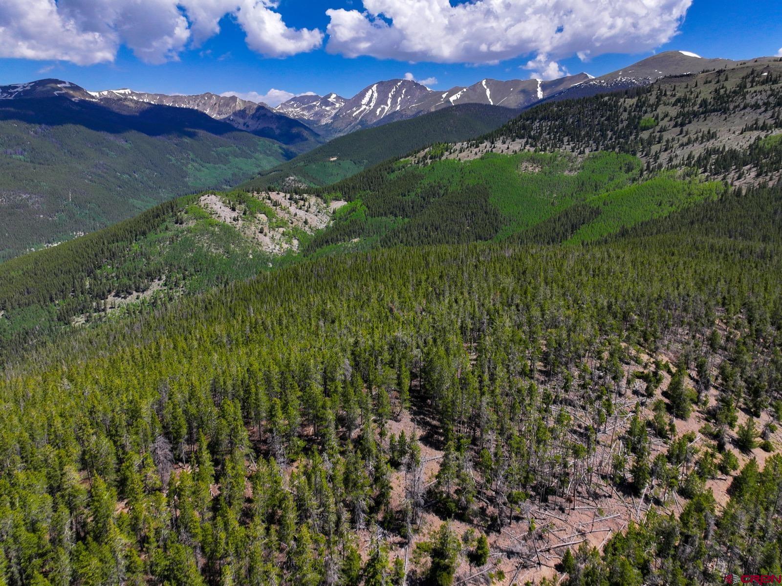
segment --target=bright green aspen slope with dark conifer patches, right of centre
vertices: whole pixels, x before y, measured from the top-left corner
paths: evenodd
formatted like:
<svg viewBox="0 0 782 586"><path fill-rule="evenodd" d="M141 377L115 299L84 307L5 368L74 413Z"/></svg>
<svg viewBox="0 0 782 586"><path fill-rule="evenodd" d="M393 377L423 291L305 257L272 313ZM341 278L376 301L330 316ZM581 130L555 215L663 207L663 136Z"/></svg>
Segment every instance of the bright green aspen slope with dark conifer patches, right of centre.
<svg viewBox="0 0 782 586"><path fill-rule="evenodd" d="M329 186L353 200L310 242L310 253L394 244L461 243L513 238L543 223L540 238L562 218L580 214L556 241L601 239L713 198L723 185L664 172L642 176L630 155L489 153L478 160L399 161ZM366 189L364 189L366 188ZM535 241L535 238L532 238Z"/></svg>

